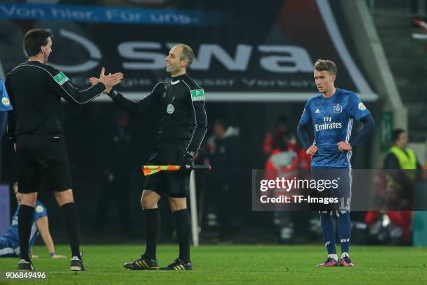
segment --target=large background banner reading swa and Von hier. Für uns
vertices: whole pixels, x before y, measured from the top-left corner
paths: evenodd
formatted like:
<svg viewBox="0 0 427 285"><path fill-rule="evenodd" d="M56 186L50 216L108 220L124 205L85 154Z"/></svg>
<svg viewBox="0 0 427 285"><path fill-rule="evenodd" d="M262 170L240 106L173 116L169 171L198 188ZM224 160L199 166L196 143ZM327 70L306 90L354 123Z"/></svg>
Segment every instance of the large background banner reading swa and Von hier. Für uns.
<svg viewBox="0 0 427 285"><path fill-rule="evenodd" d="M156 82L169 79L165 58L171 47L186 43L195 52L188 73L207 90L207 101L306 101L317 94L317 59L336 62L336 87L365 101L377 98L357 63L339 3L25 2L0 3L0 77L27 59L22 38L29 29L50 28L48 64L79 88L105 67L125 75L121 92L141 98Z"/></svg>

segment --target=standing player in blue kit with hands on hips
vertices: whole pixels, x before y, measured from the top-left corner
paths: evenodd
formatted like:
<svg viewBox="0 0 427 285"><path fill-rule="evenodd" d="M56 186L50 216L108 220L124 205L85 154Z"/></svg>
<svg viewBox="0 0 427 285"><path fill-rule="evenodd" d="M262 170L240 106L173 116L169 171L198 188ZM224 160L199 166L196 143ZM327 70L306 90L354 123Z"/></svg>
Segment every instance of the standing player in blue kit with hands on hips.
<svg viewBox="0 0 427 285"><path fill-rule="evenodd" d="M319 59L314 65L314 78L320 94L310 98L298 125L298 138L306 153L312 155L313 178L338 179L340 203L333 210L323 208L320 212L320 225L328 257L319 267L354 266L350 259L350 200L351 200L351 162L352 150L365 140L375 128L372 115L354 92L334 86L336 64L330 60ZM357 136L351 138L354 119L363 123ZM309 142L307 127L312 124L315 140ZM315 177L317 176L317 177ZM335 177L335 178L334 178ZM338 178L337 178L338 177ZM335 248L335 228L332 215L338 217L338 237L341 244L341 258Z"/></svg>

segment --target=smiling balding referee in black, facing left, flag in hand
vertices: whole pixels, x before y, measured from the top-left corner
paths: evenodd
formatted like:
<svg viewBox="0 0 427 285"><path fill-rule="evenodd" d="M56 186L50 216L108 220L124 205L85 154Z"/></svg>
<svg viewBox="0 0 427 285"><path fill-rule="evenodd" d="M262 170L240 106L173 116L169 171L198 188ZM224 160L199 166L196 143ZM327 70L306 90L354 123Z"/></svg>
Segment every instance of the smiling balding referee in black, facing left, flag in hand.
<svg viewBox="0 0 427 285"><path fill-rule="evenodd" d="M140 101L131 101L114 89L107 90L114 103L128 112L147 113L156 109L161 113L157 149L151 155L149 165L194 165L193 158L207 131L207 118L204 90L186 73L193 59L193 50L188 45L172 47L166 57L166 71L172 80L157 83L151 94ZM96 82L96 78L91 78L92 84ZM147 237L145 253L137 260L125 263L125 268L158 268L156 246L160 233L160 213L157 203L160 195L166 194L177 224L179 257L160 270L193 269L190 261L191 221L187 210L189 182L189 170L159 172L147 177L141 197Z"/></svg>

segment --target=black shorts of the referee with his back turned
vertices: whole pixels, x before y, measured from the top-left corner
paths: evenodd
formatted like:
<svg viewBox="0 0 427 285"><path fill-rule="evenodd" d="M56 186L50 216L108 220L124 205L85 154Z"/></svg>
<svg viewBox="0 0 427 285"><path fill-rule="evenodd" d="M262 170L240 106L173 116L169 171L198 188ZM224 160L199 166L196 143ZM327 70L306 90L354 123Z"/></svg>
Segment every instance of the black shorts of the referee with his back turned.
<svg viewBox="0 0 427 285"><path fill-rule="evenodd" d="M16 164L20 193L71 189L70 161L61 133L18 135Z"/></svg>

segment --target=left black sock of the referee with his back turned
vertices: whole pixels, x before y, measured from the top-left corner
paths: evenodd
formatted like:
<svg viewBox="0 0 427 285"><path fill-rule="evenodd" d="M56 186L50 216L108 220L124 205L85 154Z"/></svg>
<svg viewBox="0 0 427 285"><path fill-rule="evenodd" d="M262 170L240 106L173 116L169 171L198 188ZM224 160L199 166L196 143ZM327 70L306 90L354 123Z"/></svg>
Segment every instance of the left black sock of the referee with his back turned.
<svg viewBox="0 0 427 285"><path fill-rule="evenodd" d="M20 236L21 259L29 261L29 238L33 222L34 207L20 205L18 212L18 233Z"/></svg>

